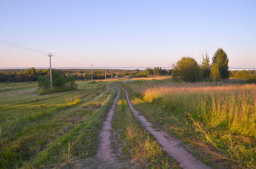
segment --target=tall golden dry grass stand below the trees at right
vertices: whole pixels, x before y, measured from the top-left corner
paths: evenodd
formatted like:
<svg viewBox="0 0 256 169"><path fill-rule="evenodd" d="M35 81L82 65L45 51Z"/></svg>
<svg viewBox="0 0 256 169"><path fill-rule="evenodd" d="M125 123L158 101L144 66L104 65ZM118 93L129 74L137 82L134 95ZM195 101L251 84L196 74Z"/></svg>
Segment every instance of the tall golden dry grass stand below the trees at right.
<svg viewBox="0 0 256 169"><path fill-rule="evenodd" d="M184 108L207 128L220 126L256 138L256 85L154 87L143 92L144 101L156 99L163 107Z"/></svg>

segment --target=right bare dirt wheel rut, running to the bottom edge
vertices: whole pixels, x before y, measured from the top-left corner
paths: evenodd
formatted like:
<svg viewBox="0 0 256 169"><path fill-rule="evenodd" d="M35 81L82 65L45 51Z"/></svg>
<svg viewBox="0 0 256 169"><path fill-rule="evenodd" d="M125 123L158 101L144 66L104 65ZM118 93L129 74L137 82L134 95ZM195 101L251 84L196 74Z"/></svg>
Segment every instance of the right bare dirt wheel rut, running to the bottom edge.
<svg viewBox="0 0 256 169"><path fill-rule="evenodd" d="M118 85L118 84L117 84ZM173 138L168 133L163 131L157 131L156 129L152 128L152 124L145 119L143 115L140 115L140 112L135 110L132 107L132 104L129 100L128 92L118 85L126 95L127 103L134 114L134 116L143 124L143 126L147 129L149 133L154 135L157 142L163 146L163 150L172 156L172 158L179 161L180 166L184 169L208 169L209 166L204 165L201 161L195 159L191 154L188 153L183 147L180 147L180 141L176 138Z"/></svg>

